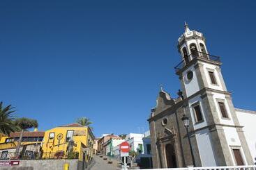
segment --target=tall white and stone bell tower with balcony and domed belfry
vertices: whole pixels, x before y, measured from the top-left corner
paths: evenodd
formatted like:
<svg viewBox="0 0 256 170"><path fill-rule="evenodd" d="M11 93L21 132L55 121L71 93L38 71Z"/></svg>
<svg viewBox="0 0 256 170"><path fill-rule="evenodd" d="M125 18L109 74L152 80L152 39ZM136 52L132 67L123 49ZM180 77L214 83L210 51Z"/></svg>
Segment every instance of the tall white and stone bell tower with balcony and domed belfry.
<svg viewBox="0 0 256 170"><path fill-rule="evenodd" d="M227 91L220 57L209 54L202 33L190 31L179 37L181 62L175 67L181 81L183 107L190 118L191 139L197 166L253 164L242 126Z"/></svg>

